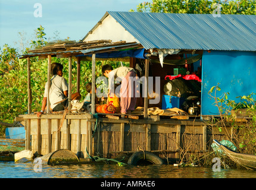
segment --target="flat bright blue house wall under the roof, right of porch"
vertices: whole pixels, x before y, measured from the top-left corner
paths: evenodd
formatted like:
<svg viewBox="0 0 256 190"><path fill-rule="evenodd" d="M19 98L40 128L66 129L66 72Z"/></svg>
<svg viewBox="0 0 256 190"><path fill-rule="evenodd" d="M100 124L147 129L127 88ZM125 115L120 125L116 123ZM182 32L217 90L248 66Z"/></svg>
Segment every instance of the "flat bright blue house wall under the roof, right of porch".
<svg viewBox="0 0 256 190"><path fill-rule="evenodd" d="M229 93L228 99L239 102L238 96L256 93L256 52L204 51L202 56L201 115L219 115L208 91L221 88L217 97Z"/></svg>

